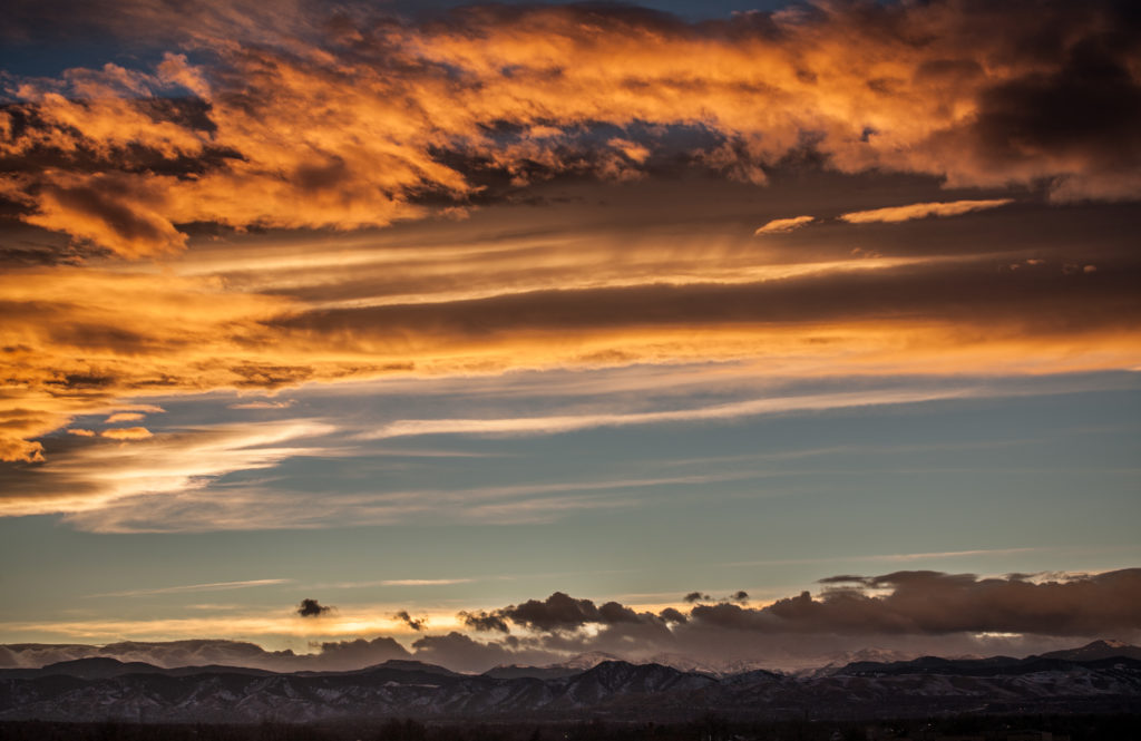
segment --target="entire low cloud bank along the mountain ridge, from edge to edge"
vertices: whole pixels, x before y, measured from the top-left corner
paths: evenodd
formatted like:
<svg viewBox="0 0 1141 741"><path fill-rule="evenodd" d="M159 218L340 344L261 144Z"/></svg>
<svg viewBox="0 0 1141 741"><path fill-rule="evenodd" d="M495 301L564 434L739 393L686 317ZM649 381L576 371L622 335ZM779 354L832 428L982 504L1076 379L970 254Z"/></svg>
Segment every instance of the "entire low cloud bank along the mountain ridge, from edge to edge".
<svg viewBox="0 0 1141 741"><path fill-rule="evenodd" d="M794 669L866 657L868 650L895 658L1027 655L1095 638L1141 641L1141 569L1052 578L897 571L841 574L822 579L820 585L816 596L804 591L760 607L748 606L741 591L715 602L693 593L687 597L696 604L688 612L638 611L616 602L596 605L557 591L494 611L461 612L461 623L476 637L456 630L431 635L421 623L424 635L410 647L385 636L315 644L316 651L307 654L205 639L106 646L10 644L0 646L0 666L113 657L164 667L221 663L299 670L414 659L483 671L604 652L686 667ZM480 634L495 637L486 641Z"/></svg>

